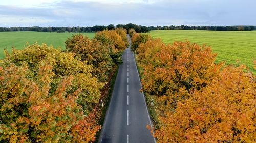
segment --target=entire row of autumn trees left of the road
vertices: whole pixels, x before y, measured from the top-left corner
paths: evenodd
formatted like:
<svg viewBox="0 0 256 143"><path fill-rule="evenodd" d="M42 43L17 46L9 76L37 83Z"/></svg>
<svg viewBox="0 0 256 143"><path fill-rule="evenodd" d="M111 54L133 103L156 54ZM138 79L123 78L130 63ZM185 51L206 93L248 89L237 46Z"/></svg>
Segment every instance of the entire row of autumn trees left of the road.
<svg viewBox="0 0 256 143"><path fill-rule="evenodd" d="M93 142L126 30L82 34L66 50L46 44L5 51L0 60L0 142ZM109 90L106 88L106 90Z"/></svg>

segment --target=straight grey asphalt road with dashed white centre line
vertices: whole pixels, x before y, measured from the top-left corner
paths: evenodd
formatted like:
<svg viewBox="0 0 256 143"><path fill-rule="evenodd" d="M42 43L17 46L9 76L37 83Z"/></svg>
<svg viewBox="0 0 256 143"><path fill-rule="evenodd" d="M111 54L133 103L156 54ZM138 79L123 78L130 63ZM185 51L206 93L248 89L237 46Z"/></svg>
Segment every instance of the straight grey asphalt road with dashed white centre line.
<svg viewBox="0 0 256 143"><path fill-rule="evenodd" d="M99 143L155 142L146 128L151 125L141 83L130 46L122 55L114 90L106 112Z"/></svg>

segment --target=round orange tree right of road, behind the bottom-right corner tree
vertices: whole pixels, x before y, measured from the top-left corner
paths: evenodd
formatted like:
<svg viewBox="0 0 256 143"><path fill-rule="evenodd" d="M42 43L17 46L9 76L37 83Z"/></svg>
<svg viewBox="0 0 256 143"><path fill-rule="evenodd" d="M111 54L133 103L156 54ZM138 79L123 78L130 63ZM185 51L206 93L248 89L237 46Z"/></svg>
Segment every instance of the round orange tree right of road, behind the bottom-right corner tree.
<svg viewBox="0 0 256 143"><path fill-rule="evenodd" d="M209 47L188 41L165 45L160 39L148 40L137 51L144 70L143 89L163 96L161 102L172 107L206 87L220 69Z"/></svg>

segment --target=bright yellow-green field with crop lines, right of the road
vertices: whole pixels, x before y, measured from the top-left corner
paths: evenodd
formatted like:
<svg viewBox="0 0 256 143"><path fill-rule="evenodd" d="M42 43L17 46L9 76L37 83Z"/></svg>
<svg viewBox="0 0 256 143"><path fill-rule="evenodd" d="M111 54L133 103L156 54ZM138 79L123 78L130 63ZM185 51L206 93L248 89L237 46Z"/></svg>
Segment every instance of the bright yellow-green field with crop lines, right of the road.
<svg viewBox="0 0 256 143"><path fill-rule="evenodd" d="M256 31L200 31L200 30L159 30L150 31L153 38L162 38L165 43L185 41L211 46L218 53L216 62L244 64L253 73L256 60ZM239 63L237 63L239 60Z"/></svg>

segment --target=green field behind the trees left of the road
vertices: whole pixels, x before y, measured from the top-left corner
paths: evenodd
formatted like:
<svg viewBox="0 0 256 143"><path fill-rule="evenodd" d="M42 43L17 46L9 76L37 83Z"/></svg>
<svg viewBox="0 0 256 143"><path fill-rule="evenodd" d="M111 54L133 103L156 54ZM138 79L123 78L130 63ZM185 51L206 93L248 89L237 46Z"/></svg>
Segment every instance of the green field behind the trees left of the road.
<svg viewBox="0 0 256 143"><path fill-rule="evenodd" d="M11 51L12 46L16 49L24 49L27 42L33 44L35 41L38 44L46 43L53 45L54 48L61 47L65 49L65 40L73 34L78 33L56 33L56 32L0 32L0 59L4 58L4 49ZM90 38L94 37L95 33L82 33Z"/></svg>

